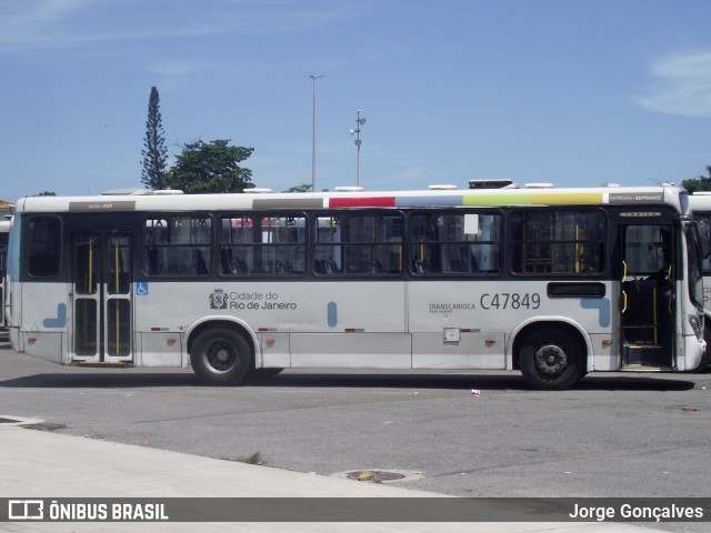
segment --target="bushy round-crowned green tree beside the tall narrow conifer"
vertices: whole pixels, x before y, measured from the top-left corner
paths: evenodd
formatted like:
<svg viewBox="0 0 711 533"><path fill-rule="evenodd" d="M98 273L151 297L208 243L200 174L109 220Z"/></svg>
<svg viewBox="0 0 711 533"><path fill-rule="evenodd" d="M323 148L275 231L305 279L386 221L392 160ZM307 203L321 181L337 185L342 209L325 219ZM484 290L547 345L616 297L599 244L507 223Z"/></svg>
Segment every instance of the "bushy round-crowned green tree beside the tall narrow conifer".
<svg viewBox="0 0 711 533"><path fill-rule="evenodd" d="M189 142L168 174L168 184L188 194L242 192L251 185L252 171L240 167L253 148L230 147L230 139Z"/></svg>

